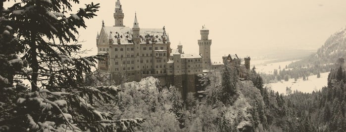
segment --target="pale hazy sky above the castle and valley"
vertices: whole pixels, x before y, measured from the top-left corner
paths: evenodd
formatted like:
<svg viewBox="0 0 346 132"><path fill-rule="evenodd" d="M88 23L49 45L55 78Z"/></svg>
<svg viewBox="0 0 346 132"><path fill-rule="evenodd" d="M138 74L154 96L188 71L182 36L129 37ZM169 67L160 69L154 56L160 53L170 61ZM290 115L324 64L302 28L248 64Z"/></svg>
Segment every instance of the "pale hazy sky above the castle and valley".
<svg viewBox="0 0 346 132"><path fill-rule="evenodd" d="M116 0L82 0L100 3L98 16L80 30L83 49L93 48L101 21L114 25ZM162 28L171 47L179 41L185 53L198 54L197 40L202 25L212 39L211 58L225 54L251 56L257 51L317 50L332 34L346 26L346 0L120 0L124 25L132 28L135 11L140 28Z"/></svg>

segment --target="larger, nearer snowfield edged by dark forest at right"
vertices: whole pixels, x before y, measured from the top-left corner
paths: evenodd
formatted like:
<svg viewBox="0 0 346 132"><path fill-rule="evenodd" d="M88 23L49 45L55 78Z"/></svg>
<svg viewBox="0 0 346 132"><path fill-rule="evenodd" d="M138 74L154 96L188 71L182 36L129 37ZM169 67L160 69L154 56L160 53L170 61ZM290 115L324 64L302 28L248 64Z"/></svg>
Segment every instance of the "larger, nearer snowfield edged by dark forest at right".
<svg viewBox="0 0 346 132"><path fill-rule="evenodd" d="M291 87L292 91L298 90L305 93L312 93L312 91L321 90L323 86L327 86L329 72L321 73L321 77L317 78L317 75L311 75L308 77L309 80L303 81L302 78L299 78L295 83L295 79L289 79L289 81L277 82L265 84L265 86L271 87L275 92L279 92L281 94L286 93L286 87Z"/></svg>

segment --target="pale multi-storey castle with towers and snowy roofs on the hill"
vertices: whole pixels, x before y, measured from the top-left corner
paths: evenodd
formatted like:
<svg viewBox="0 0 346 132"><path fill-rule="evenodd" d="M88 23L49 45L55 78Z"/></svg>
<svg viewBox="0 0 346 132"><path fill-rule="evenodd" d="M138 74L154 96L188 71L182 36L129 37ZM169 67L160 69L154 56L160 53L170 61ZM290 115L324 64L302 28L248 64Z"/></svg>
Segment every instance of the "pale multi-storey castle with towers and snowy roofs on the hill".
<svg viewBox="0 0 346 132"><path fill-rule="evenodd" d="M114 26L104 26L102 21L101 31L96 38L98 54L107 53L104 61L98 62L102 72L109 73L110 78L118 84L153 76L160 80L162 86L174 85L182 93L196 92L196 75L203 73L203 69L212 68L211 40L205 26L200 30L199 55L186 54L181 43L177 49L170 47L165 27L140 28L137 14L132 28L125 27L119 0L116 1L113 16Z"/></svg>

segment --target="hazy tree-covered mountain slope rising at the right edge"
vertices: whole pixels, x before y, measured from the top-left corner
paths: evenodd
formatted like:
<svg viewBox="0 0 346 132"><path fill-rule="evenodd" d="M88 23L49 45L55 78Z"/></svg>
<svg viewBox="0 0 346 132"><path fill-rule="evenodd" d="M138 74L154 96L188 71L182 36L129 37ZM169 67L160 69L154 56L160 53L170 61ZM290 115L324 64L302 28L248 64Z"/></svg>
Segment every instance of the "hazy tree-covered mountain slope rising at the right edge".
<svg viewBox="0 0 346 132"><path fill-rule="evenodd" d="M346 27L332 34L316 53L295 64L323 65L336 63L339 58L346 58Z"/></svg>

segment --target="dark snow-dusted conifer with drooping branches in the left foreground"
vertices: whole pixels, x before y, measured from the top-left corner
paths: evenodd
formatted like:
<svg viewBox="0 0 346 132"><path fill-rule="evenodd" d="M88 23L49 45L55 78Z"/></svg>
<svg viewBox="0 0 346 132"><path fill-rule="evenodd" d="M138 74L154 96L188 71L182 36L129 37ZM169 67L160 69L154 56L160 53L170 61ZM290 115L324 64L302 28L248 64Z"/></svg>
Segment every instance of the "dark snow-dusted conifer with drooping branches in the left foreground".
<svg viewBox="0 0 346 132"><path fill-rule="evenodd" d="M120 91L114 86L87 87L84 75L105 55L80 57L78 28L96 16L99 4L79 0L19 0L0 18L0 131L133 131L144 119L113 119L96 110ZM71 44L72 43L72 44ZM30 85L22 81L29 80Z"/></svg>

